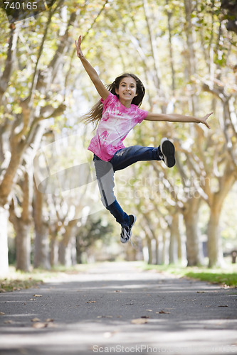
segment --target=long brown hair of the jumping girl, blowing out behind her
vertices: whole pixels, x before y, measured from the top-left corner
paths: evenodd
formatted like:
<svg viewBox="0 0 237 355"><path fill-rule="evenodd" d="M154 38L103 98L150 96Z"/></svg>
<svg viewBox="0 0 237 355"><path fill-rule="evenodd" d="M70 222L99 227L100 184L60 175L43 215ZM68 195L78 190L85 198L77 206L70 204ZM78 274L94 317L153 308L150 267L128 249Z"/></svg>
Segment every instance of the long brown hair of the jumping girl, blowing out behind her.
<svg viewBox="0 0 237 355"><path fill-rule="evenodd" d="M132 77L135 80L136 86L137 86L137 92L136 92L137 96L132 99L132 104L140 107L142 104L142 99L145 94L145 88L144 88L144 85L142 84L141 80L139 80L139 78L136 75L125 72L125 74L122 74L119 77L116 77L115 81L112 82L112 84L106 85L107 90L112 92L112 94L116 95L117 97L119 97L119 95L116 94L115 89L119 88L120 81L124 77ZM102 117L102 109L103 109L103 104L99 100L90 109L88 114L85 114L85 116L83 116L83 120L85 120L87 123L92 122L93 124L95 124L95 128L96 128L98 126L98 123L100 122L101 117Z"/></svg>

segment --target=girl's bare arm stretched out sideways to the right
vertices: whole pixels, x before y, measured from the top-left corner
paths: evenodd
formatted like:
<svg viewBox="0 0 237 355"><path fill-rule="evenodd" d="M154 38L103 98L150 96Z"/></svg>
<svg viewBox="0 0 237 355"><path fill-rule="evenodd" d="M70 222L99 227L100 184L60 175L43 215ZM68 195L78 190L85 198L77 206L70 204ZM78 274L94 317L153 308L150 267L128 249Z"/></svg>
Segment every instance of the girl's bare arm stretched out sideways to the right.
<svg viewBox="0 0 237 355"><path fill-rule="evenodd" d="M213 114L213 112L211 112ZM194 122L196 124L205 124L209 129L211 128L206 122L211 114L201 117L201 119L194 116L185 116L183 114L147 114L147 121L168 121L168 122Z"/></svg>

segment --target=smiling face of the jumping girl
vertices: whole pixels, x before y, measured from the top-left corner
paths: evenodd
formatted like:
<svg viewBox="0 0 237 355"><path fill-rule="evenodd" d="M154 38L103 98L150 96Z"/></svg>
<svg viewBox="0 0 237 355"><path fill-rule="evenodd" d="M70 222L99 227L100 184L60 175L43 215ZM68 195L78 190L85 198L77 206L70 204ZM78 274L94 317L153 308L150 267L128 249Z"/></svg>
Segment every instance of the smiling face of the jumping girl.
<svg viewBox="0 0 237 355"><path fill-rule="evenodd" d="M129 106L132 99L137 96L137 84L133 77L123 77L120 81L120 86L115 89L115 92L120 97L120 102L125 106Z"/></svg>

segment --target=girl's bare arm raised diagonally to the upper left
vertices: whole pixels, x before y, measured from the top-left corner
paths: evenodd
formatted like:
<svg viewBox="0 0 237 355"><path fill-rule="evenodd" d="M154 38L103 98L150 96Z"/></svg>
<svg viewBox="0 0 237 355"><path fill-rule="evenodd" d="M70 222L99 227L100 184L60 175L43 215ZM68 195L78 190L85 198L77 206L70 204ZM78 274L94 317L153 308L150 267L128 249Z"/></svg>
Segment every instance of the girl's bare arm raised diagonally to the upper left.
<svg viewBox="0 0 237 355"><path fill-rule="evenodd" d="M102 97L102 99L105 100L110 94L110 92L106 89L105 85L100 80L98 73L95 71L92 65L90 65L88 60L84 57L83 52L80 48L81 40L82 40L81 35L79 35L78 42L75 40L75 47L77 49L78 58L83 63L83 67L85 68L85 71L88 73L90 80L95 85L95 89L97 89L100 97Z"/></svg>

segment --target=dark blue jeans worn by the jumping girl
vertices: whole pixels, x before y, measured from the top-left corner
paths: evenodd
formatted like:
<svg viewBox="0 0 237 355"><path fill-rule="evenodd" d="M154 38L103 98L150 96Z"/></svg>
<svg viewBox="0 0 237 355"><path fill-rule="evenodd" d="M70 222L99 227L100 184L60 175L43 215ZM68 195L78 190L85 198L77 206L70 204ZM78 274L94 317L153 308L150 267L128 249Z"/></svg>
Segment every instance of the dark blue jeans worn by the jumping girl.
<svg viewBox="0 0 237 355"><path fill-rule="evenodd" d="M132 146L117 151L110 161L101 160L97 155L94 155L93 162L95 163L95 173L102 204L122 227L130 224L130 218L122 210L114 195L115 171L125 169L137 161L161 160L159 153L159 147Z"/></svg>

